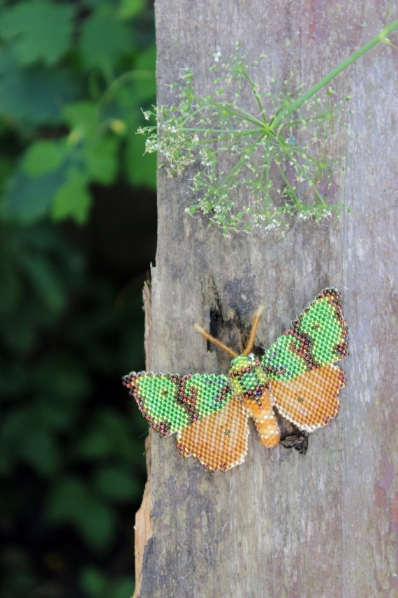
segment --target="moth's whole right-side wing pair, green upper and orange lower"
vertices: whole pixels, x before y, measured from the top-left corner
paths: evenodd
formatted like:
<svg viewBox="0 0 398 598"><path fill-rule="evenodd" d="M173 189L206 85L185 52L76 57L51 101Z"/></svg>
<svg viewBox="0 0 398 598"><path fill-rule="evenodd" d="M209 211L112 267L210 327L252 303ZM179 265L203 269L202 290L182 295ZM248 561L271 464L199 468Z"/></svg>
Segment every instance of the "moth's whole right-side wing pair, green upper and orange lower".
<svg viewBox="0 0 398 598"><path fill-rule="evenodd" d="M328 424L339 413L344 371L332 363L348 347L339 292L323 291L263 355L272 404L306 432Z"/></svg>

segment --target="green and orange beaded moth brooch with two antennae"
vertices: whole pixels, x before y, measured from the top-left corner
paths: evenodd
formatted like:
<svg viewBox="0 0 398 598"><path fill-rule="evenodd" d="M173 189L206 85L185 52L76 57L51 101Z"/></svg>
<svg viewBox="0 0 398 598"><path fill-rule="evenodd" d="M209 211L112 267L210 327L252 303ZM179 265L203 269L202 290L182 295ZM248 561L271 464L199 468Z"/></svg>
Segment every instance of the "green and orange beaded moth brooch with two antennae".
<svg viewBox="0 0 398 598"><path fill-rule="evenodd" d="M348 355L348 330L337 289L321 294L258 359L251 353L263 306L256 311L240 355L199 324L207 341L233 357L228 375L131 372L124 385L149 425L161 436L177 433L184 457L197 457L210 471L244 461L251 417L260 443L277 446L273 407L301 430L313 432L339 412L344 371L332 365Z"/></svg>

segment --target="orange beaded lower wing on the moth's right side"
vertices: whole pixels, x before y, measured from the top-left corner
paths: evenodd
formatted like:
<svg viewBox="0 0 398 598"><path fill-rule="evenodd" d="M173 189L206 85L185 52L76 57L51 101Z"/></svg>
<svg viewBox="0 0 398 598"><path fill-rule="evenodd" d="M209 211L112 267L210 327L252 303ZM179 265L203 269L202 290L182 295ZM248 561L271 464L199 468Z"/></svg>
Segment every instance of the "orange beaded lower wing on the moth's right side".
<svg viewBox="0 0 398 598"><path fill-rule="evenodd" d="M291 380L270 378L272 403L279 413L306 432L330 423L339 413L339 392L346 383L344 371L321 366Z"/></svg>

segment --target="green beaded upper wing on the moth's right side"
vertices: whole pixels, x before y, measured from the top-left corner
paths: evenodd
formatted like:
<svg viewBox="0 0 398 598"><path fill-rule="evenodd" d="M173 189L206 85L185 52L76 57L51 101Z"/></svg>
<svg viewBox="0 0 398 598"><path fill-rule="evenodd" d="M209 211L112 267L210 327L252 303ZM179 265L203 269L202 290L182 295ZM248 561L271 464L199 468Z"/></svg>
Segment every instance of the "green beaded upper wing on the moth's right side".
<svg viewBox="0 0 398 598"><path fill-rule="evenodd" d="M347 327L336 289L327 289L260 360L267 378L292 380L347 355Z"/></svg>

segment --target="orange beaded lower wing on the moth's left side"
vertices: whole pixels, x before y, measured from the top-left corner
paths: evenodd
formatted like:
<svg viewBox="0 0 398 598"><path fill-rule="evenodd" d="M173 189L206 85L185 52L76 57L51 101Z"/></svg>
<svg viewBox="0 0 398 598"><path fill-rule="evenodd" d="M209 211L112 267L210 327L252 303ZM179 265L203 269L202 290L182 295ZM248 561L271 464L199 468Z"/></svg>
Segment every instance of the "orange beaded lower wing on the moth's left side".
<svg viewBox="0 0 398 598"><path fill-rule="evenodd" d="M211 471L231 469L244 461L249 439L248 415L236 397L221 410L207 415L177 434L184 457L197 457Z"/></svg>

